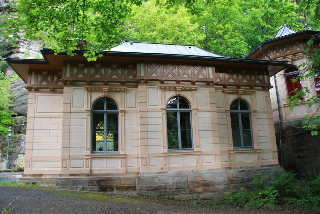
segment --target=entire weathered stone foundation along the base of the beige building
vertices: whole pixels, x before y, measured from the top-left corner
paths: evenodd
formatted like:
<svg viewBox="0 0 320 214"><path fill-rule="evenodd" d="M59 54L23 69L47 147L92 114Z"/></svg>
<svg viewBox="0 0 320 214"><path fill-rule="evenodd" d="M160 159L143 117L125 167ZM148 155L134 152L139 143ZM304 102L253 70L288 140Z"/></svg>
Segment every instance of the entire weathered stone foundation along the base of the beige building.
<svg viewBox="0 0 320 214"><path fill-rule="evenodd" d="M49 184L58 189L79 191L121 192L145 196L169 197L175 200L222 199L226 192L238 192L240 187L252 189L254 175L267 174L268 181L279 165L197 169L167 172L27 175L20 182Z"/></svg>

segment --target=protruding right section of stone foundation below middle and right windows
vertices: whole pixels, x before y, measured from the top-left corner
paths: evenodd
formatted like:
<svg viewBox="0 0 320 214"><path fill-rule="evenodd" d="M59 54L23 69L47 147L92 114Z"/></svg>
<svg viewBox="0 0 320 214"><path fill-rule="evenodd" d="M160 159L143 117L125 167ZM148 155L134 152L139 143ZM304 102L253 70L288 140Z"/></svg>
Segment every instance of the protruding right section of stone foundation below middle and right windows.
<svg viewBox="0 0 320 214"><path fill-rule="evenodd" d="M175 200L219 200L226 192L237 192L240 187L253 188L254 175L267 173L271 181L275 171L282 170L279 165L268 165L140 173L137 177L137 193L169 196Z"/></svg>

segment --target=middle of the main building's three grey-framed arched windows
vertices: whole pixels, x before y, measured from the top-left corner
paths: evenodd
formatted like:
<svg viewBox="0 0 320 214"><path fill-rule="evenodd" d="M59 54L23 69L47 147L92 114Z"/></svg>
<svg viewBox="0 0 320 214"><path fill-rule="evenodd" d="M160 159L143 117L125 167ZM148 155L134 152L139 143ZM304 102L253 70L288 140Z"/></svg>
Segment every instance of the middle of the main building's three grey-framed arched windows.
<svg viewBox="0 0 320 214"><path fill-rule="evenodd" d="M173 97L167 103L168 150L190 150L192 143L191 108L187 100Z"/></svg>

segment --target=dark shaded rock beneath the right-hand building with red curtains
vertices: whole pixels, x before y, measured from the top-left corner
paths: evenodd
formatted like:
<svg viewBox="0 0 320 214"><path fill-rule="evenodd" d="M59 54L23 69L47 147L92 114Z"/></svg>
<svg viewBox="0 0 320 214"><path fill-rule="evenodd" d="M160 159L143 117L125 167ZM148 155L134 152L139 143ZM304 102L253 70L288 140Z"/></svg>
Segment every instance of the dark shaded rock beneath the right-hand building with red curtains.
<svg viewBox="0 0 320 214"><path fill-rule="evenodd" d="M283 127L281 134L284 168L293 170L307 180L313 180L319 176L320 134L311 136L310 131L293 125ZM278 130L276 130L276 136L278 151L280 151Z"/></svg>

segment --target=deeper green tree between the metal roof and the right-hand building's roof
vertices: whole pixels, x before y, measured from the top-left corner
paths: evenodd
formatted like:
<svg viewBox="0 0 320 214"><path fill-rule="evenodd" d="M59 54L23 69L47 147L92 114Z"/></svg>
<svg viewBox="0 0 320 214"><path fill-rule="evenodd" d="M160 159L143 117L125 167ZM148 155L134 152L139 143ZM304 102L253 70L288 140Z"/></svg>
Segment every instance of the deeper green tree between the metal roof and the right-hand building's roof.
<svg viewBox="0 0 320 214"><path fill-rule="evenodd" d="M302 29L298 5L289 0L215 0L199 5L194 19L206 38L203 47L230 57L244 57L261 42L272 39L283 24Z"/></svg>

